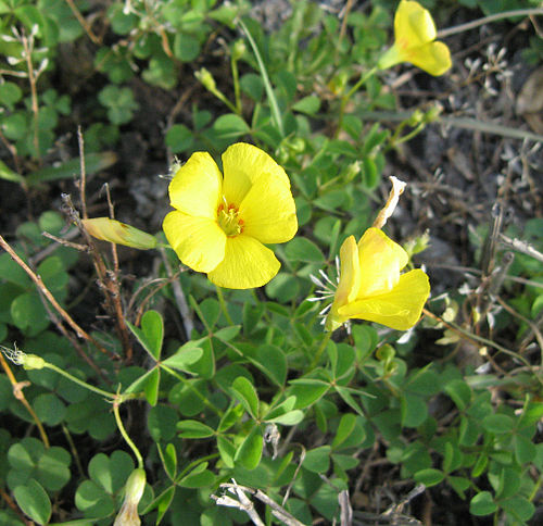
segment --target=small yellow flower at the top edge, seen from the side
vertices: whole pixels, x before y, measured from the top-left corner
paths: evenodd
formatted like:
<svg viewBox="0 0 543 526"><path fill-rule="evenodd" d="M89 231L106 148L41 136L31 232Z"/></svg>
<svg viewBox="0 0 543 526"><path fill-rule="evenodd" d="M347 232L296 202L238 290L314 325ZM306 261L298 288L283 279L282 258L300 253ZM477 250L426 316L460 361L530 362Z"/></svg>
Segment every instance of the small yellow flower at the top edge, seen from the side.
<svg viewBox="0 0 543 526"><path fill-rule="evenodd" d="M435 36L429 11L418 2L402 0L394 16L394 45L380 58L378 67L409 62L430 75L442 75L451 67L451 53L446 45L434 41Z"/></svg>

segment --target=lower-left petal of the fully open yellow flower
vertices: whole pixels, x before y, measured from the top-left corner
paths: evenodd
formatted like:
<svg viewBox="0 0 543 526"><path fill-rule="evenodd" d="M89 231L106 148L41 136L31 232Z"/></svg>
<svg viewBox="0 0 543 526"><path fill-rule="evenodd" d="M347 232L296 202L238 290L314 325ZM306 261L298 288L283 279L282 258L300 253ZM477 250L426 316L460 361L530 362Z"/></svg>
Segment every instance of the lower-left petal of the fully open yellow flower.
<svg viewBox="0 0 543 526"><path fill-rule="evenodd" d="M174 211L162 227L177 256L193 271L211 272L224 260L226 235L215 220Z"/></svg>

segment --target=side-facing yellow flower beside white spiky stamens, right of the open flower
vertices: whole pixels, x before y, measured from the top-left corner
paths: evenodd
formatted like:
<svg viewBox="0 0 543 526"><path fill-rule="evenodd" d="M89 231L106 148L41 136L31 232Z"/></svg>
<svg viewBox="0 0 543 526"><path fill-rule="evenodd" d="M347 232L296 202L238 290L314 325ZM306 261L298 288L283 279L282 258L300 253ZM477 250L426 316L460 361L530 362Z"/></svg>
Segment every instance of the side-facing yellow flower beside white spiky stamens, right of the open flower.
<svg viewBox="0 0 543 526"><path fill-rule="evenodd" d="M379 228L368 228L356 245L354 236L340 249L340 280L326 329L350 318L367 320L396 330L415 325L430 293L428 276L419 268L400 274L405 250Z"/></svg>

